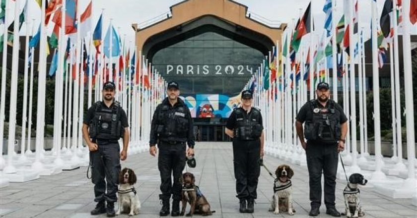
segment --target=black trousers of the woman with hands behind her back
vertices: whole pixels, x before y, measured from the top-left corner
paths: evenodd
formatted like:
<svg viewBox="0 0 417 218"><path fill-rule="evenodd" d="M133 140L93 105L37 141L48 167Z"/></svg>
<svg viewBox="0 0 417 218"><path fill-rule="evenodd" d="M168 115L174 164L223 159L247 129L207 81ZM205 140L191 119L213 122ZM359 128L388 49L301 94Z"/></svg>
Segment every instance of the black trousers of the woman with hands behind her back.
<svg viewBox="0 0 417 218"><path fill-rule="evenodd" d="M236 197L256 199L258 178L261 172L259 164L261 140L233 139L233 165L236 178Z"/></svg>

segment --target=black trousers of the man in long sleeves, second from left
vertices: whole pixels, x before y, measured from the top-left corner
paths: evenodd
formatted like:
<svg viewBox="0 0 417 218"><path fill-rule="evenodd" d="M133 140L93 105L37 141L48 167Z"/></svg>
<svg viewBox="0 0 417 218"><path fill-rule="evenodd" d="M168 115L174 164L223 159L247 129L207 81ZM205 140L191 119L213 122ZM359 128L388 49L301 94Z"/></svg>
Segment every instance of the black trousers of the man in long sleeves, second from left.
<svg viewBox="0 0 417 218"><path fill-rule="evenodd" d="M158 169L161 176L161 192L159 199L181 200L181 177L186 161L185 142L168 143L159 141L158 143ZM171 180L171 174L174 180Z"/></svg>

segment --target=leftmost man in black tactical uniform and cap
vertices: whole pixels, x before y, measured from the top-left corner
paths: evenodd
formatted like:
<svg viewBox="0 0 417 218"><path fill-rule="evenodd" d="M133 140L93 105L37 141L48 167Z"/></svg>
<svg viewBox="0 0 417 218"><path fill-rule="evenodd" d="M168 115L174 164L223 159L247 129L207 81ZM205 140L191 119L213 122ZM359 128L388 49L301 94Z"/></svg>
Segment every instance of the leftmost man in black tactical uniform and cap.
<svg viewBox="0 0 417 218"><path fill-rule="evenodd" d="M94 183L94 201L97 202L91 215L107 213L107 217L115 216L114 203L117 201L120 160L127 158L128 118L120 103L114 101L115 88L113 82L103 85L103 101L94 103L88 109L82 125L82 136L90 150L91 181ZM122 151L118 142L121 137Z"/></svg>

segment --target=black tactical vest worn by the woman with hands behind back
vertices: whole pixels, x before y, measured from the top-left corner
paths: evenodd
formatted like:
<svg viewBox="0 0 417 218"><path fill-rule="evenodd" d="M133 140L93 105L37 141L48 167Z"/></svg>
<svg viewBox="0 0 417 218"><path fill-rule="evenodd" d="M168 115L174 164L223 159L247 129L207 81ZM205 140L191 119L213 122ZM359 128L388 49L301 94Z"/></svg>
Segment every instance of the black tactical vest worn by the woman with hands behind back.
<svg viewBox="0 0 417 218"><path fill-rule="evenodd" d="M242 108L235 109L236 124L234 135L240 140L256 140L261 134L263 127L259 122L261 112L259 109L252 108L249 114Z"/></svg>

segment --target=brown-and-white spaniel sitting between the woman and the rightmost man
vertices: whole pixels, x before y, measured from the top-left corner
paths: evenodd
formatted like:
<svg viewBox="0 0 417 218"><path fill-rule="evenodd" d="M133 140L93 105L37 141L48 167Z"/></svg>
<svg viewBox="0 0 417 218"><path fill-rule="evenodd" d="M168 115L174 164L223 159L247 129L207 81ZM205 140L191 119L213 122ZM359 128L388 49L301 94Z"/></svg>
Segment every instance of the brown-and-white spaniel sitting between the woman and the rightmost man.
<svg viewBox="0 0 417 218"><path fill-rule="evenodd" d="M294 175L294 171L288 165L281 164L277 167L275 175L277 178L274 182L274 196L269 211L274 211L274 214L288 211L289 215L294 215L291 186L291 177Z"/></svg>

